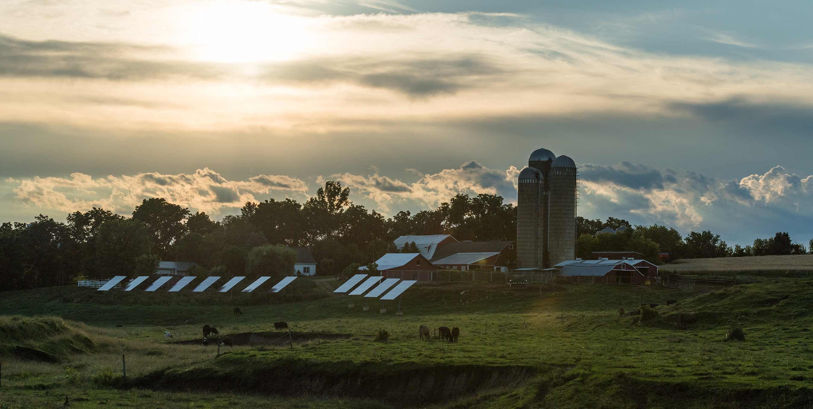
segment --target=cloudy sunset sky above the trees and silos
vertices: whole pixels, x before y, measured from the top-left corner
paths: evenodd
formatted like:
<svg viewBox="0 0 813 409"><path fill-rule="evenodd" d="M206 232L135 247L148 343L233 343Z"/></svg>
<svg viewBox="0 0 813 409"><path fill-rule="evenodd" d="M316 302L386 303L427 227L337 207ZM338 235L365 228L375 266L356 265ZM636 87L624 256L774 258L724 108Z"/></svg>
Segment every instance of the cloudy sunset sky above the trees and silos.
<svg viewBox="0 0 813 409"><path fill-rule="evenodd" d="M215 218L325 180L389 216L515 203L534 149L578 213L813 238L813 3L4 0L0 222Z"/></svg>

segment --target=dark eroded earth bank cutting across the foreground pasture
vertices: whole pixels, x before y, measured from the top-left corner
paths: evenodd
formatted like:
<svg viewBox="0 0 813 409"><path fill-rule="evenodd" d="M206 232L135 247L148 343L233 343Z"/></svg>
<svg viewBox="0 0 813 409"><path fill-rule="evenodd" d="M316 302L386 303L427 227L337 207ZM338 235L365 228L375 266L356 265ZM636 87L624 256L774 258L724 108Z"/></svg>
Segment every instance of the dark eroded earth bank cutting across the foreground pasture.
<svg viewBox="0 0 813 409"><path fill-rule="evenodd" d="M151 389L238 392L281 396L372 398L397 406L442 403L480 390L515 388L533 378L527 366L331 364L304 360L269 366L238 364L233 354L205 367L172 369L138 379Z"/></svg>

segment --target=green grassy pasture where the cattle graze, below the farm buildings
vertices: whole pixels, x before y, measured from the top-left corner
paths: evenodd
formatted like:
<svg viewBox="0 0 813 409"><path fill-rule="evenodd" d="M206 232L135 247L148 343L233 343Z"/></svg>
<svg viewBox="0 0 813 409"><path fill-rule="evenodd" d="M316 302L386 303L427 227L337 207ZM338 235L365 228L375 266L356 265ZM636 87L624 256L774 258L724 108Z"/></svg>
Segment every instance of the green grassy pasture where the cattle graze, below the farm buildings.
<svg viewBox="0 0 813 409"><path fill-rule="evenodd" d="M658 287L418 286L389 313L347 308L315 280L307 300L105 295L56 287L0 299L0 408L811 407L813 281L706 294ZM320 292L321 291L321 292ZM302 294L300 294L302 295ZM177 296L177 297L176 297ZM270 297L270 295L263 296ZM173 298L176 297L176 298ZM289 297L293 298L293 297ZM678 300L666 306L667 299ZM277 300L283 301L283 300ZM641 303L658 316L619 315ZM234 306L244 314L235 316ZM286 335L273 329L286 321ZM202 347L201 327L246 345ZM418 326L459 326L426 342ZM122 325L122 326L117 326ZM725 341L726 326L745 342ZM679 329L680 328L680 329ZM379 329L389 341L376 341ZM163 331L174 338L165 340ZM250 334L253 334L250 336ZM285 338L282 338L284 341ZM15 358L13 348L47 359ZM121 355L127 380L121 377Z"/></svg>

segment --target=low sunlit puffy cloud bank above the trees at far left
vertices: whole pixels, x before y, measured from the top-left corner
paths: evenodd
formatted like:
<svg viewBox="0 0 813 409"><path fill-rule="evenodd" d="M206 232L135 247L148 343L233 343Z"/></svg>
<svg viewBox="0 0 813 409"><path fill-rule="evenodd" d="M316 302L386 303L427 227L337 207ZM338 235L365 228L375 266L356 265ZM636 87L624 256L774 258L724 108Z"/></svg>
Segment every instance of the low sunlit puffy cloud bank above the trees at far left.
<svg viewBox="0 0 813 409"><path fill-rule="evenodd" d="M193 174L148 172L95 179L88 174L73 173L68 178L7 179L7 183L17 185L13 192L23 204L65 212L95 206L129 213L143 199L163 197L184 207L216 214L223 208L255 201L254 195L307 192L305 182L285 175L259 174L246 181L230 181L209 168Z"/></svg>

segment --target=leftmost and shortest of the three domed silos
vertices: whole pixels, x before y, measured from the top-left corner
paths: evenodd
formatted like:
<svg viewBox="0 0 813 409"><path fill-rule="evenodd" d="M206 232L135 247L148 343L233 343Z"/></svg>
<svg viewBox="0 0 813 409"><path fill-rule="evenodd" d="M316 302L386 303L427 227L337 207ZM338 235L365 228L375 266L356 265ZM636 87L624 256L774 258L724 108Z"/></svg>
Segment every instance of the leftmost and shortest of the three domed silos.
<svg viewBox="0 0 813 409"><path fill-rule="evenodd" d="M541 266L542 180L536 168L520 172L516 206L516 264L520 268Z"/></svg>

